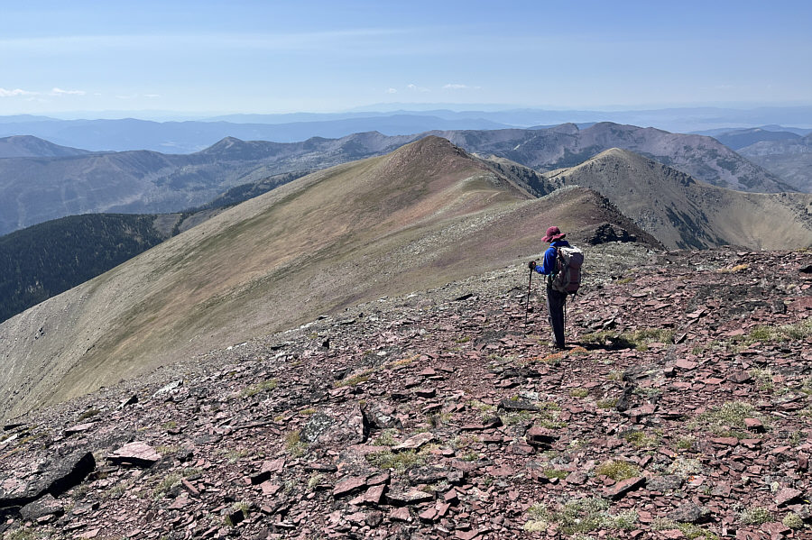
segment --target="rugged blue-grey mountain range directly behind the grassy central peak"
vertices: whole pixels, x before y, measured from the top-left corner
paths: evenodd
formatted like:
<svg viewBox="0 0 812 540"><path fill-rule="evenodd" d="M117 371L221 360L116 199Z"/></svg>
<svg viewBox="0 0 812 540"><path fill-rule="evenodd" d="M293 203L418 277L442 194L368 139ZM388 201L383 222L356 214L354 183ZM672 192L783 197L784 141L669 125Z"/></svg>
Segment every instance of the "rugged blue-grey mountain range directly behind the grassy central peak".
<svg viewBox="0 0 812 540"><path fill-rule="evenodd" d="M616 147L639 152L717 186L759 192L793 189L710 137L631 125L602 123L580 130L575 124L562 124L549 129L399 136L355 133L294 143L244 142L229 137L193 154L76 151L63 157L0 160L0 233L88 212L179 212L204 205L242 184L381 155L426 134L447 138L466 151L495 155L540 171L571 167ZM51 147L43 142L42 148Z"/></svg>

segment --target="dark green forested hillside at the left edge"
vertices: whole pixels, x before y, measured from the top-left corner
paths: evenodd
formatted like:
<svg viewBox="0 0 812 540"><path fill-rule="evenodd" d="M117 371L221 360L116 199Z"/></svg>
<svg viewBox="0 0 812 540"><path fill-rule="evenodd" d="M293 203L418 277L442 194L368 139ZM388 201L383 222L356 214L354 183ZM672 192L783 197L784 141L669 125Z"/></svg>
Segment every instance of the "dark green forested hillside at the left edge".
<svg viewBox="0 0 812 540"><path fill-rule="evenodd" d="M163 242L155 215L71 215L0 236L0 321Z"/></svg>

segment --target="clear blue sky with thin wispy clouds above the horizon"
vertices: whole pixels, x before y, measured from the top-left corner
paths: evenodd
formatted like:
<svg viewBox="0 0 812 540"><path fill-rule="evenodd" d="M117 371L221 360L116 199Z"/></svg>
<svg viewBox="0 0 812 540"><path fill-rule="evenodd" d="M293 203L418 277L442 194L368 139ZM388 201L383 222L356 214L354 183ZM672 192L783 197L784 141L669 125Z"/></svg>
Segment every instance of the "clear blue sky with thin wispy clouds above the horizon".
<svg viewBox="0 0 812 540"><path fill-rule="evenodd" d="M0 114L810 105L810 28L808 0L0 0Z"/></svg>

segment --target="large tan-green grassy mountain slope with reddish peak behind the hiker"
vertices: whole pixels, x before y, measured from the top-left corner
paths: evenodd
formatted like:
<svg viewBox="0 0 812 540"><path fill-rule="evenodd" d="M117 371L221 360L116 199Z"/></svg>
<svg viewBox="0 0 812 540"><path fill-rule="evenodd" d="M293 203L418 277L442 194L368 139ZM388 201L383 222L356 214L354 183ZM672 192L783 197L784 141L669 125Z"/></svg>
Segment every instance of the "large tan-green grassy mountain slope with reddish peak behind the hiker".
<svg viewBox="0 0 812 540"><path fill-rule="evenodd" d="M650 238L594 192L529 192L436 137L299 178L0 325L0 415L502 268L552 223Z"/></svg>

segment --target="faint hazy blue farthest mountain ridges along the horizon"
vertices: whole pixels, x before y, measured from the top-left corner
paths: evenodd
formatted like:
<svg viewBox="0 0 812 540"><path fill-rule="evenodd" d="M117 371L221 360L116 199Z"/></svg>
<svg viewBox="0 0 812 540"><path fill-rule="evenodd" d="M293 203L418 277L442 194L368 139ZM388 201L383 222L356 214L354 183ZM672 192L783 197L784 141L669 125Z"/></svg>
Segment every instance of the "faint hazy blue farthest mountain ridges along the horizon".
<svg viewBox="0 0 812 540"><path fill-rule="evenodd" d="M372 105L365 107L364 111L346 113L228 114L172 122L136 120L126 118L125 113L121 113L120 119L102 120L58 120L23 114L0 116L0 137L34 135L56 144L91 151L189 153L203 150L229 136L248 141L296 142L310 137L338 138L370 131L404 135L432 130L550 127L565 123L587 127L598 122L653 126L676 133L721 126L812 126L812 106L754 109L683 107L614 112L533 108L494 110L484 105L482 110L449 110L444 108L447 106Z"/></svg>

